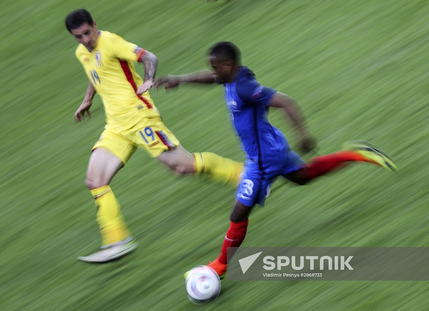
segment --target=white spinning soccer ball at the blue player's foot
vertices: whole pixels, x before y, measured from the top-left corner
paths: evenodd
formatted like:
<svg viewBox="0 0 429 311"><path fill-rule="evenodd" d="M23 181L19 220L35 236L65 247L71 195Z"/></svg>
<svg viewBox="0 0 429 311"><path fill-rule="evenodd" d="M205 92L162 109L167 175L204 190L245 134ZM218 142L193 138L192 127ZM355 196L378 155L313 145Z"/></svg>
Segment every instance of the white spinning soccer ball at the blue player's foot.
<svg viewBox="0 0 429 311"><path fill-rule="evenodd" d="M186 275L186 291L192 302L209 302L219 296L221 280L215 270L208 266L196 266Z"/></svg>

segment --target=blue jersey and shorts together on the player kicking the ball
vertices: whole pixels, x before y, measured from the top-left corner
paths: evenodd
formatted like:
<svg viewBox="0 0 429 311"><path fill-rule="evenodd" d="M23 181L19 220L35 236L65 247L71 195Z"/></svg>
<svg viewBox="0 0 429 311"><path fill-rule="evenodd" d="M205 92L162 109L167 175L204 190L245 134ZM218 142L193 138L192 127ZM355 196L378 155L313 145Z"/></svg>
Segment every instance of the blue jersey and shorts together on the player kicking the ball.
<svg viewBox="0 0 429 311"><path fill-rule="evenodd" d="M263 204L272 181L277 176L287 178L304 161L290 149L283 133L268 121L269 104L276 90L260 85L255 74L241 66L235 81L224 84L224 91L249 159L237 199L248 206Z"/></svg>

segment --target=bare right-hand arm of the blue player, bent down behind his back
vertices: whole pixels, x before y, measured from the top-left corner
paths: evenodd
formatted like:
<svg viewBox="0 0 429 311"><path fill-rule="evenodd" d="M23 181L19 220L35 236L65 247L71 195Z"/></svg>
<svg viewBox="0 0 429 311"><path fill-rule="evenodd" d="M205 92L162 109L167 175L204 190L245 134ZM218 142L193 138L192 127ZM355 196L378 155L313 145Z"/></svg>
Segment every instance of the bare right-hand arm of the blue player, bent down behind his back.
<svg viewBox="0 0 429 311"><path fill-rule="evenodd" d="M299 109L298 104L292 98L281 92L276 92L269 103L271 107L283 108L286 114L292 120L296 129L301 136L301 149L304 152L309 152L316 148L317 142L307 130L304 115Z"/></svg>

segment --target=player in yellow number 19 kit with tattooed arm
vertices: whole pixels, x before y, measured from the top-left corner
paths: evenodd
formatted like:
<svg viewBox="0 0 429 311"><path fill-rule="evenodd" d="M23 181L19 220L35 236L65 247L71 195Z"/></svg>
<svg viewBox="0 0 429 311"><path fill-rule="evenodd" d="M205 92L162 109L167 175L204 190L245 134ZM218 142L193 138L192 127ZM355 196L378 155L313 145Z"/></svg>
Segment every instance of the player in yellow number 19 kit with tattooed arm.
<svg viewBox="0 0 429 311"><path fill-rule="evenodd" d="M88 89L74 117L85 120L94 95L100 94L106 111L106 127L92 148L86 184L97 205L101 250L79 260L108 262L133 251L133 241L120 206L109 184L127 163L137 146L179 173L204 173L236 186L242 163L210 152L187 152L163 124L149 96L157 68L157 57L138 45L108 31L99 31L91 14L78 9L66 17L66 27L80 43L76 57L88 75ZM145 78L134 63L143 63Z"/></svg>

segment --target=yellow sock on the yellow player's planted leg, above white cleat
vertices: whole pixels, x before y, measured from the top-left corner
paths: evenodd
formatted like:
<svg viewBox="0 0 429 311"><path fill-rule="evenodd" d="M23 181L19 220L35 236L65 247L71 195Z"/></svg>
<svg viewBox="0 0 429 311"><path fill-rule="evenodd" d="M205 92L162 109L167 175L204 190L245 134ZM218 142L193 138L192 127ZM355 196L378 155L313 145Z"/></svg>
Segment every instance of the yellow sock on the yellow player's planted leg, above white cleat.
<svg viewBox="0 0 429 311"><path fill-rule="evenodd" d="M122 241L130 236L122 217L121 206L109 185L91 190L97 205L97 222L103 239L102 246Z"/></svg>

